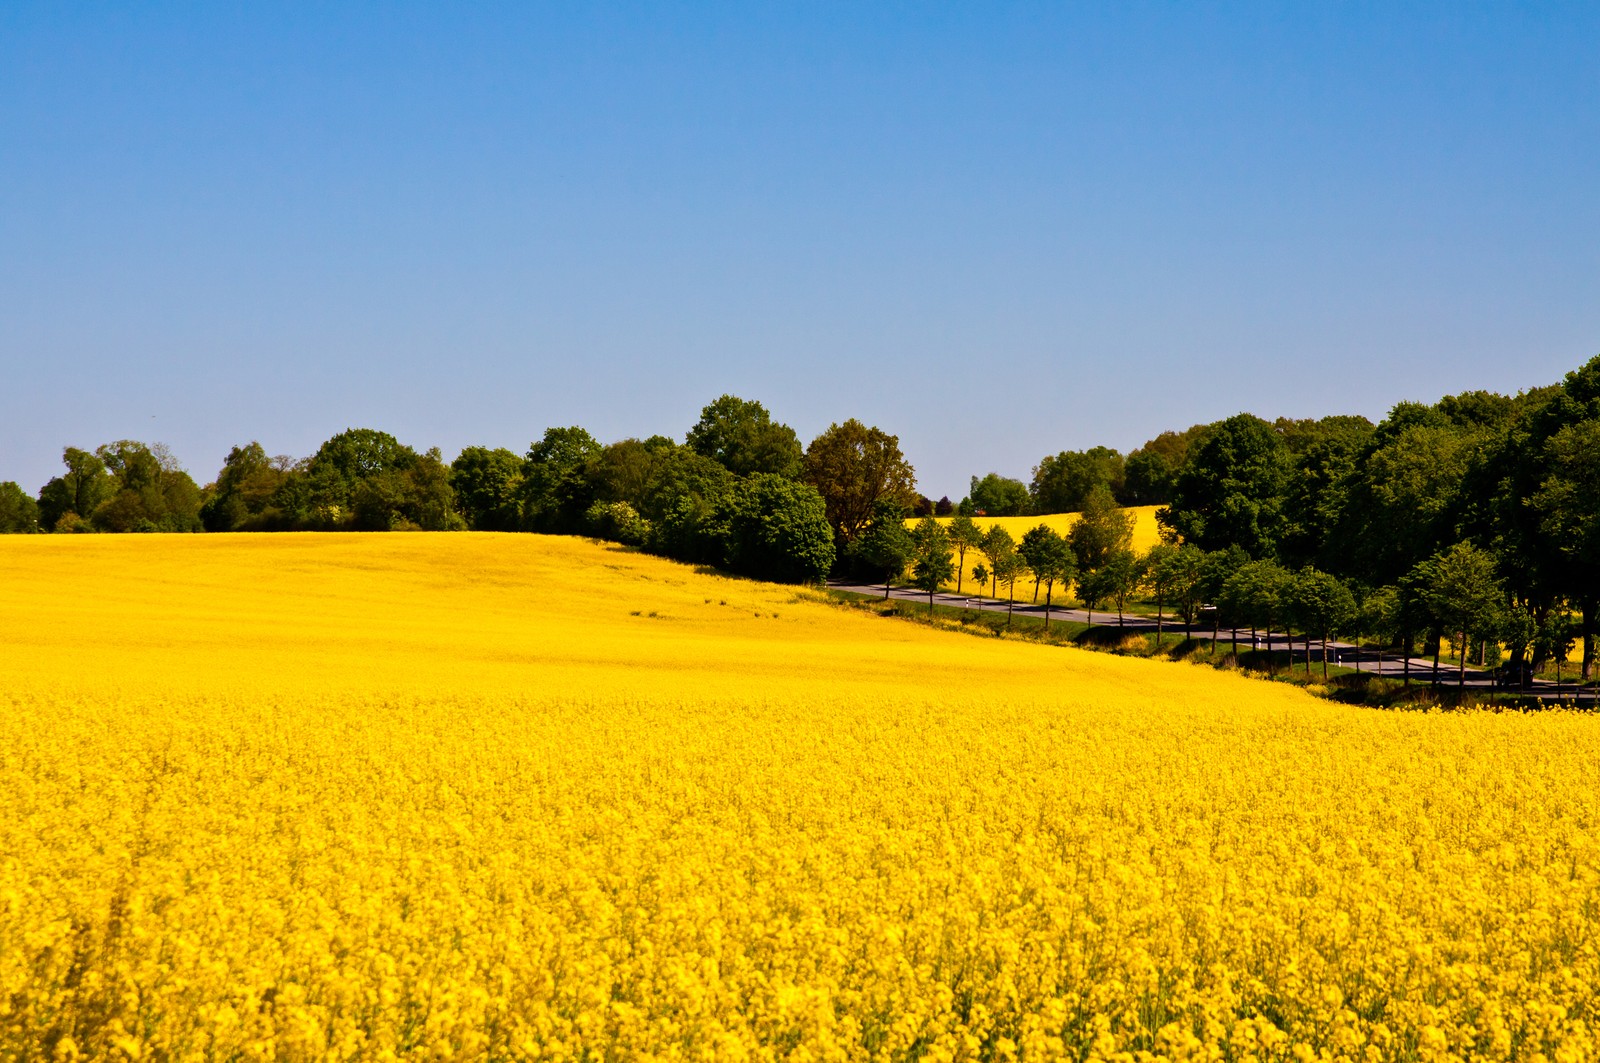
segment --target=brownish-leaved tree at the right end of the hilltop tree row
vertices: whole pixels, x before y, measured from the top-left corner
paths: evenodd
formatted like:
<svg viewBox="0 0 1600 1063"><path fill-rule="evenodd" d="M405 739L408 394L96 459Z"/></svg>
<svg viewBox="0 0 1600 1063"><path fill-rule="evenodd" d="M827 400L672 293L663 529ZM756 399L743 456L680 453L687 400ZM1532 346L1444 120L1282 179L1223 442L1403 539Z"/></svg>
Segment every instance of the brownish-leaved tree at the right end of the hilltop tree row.
<svg viewBox="0 0 1600 1063"><path fill-rule="evenodd" d="M917 498L917 474L899 439L851 418L830 424L805 451L805 479L827 507L838 543L848 544L872 520L878 503L901 511Z"/></svg>

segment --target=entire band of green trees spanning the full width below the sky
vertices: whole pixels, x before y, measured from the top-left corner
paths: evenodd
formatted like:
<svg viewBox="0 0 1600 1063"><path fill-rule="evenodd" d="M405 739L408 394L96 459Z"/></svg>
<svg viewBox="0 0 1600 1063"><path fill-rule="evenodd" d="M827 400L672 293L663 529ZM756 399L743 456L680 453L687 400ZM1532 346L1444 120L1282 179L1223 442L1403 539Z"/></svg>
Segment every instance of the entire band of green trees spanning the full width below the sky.
<svg viewBox="0 0 1600 1063"><path fill-rule="evenodd" d="M1062 451L1029 483L973 477L960 504L918 496L898 439L878 427L850 419L802 447L762 403L733 395L709 403L683 442L600 443L552 427L522 455L467 447L445 464L437 450L350 429L298 461L235 447L205 487L165 448L131 440L69 447L62 463L37 498L0 483L0 530L581 533L773 580L854 570L888 583L910 570L930 592L952 575L962 586L974 551L990 591L1032 575L1046 600L1070 588L1120 608L1147 594L1186 623L1210 604L1216 623L1365 634L1408 653L1421 642L1437 655L1450 639L1459 666L1466 647L1490 664L1504 645L1530 669L1581 642L1584 679L1600 624L1600 357L1517 395L1402 402L1379 424L1240 413L1126 456ZM1115 530L1133 504L1162 506L1166 541L1146 557ZM941 511L1083 519L1066 549L1024 536L1013 552L998 540L989 552L960 520L904 525Z"/></svg>

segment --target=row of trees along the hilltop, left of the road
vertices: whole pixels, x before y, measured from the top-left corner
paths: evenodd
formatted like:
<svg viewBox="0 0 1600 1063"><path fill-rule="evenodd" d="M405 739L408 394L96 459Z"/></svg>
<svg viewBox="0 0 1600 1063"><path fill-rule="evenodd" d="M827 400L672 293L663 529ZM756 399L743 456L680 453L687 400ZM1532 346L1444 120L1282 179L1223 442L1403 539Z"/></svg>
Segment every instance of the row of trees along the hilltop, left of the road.
<svg viewBox="0 0 1600 1063"><path fill-rule="evenodd" d="M522 455L467 447L445 464L437 448L349 429L302 459L234 447L205 487L163 447L134 440L69 447L62 464L37 498L0 483L0 530L542 532L819 581L851 564L875 512L915 503L898 437L848 419L802 447L760 402L734 395L709 403L682 443L550 427Z"/></svg>

